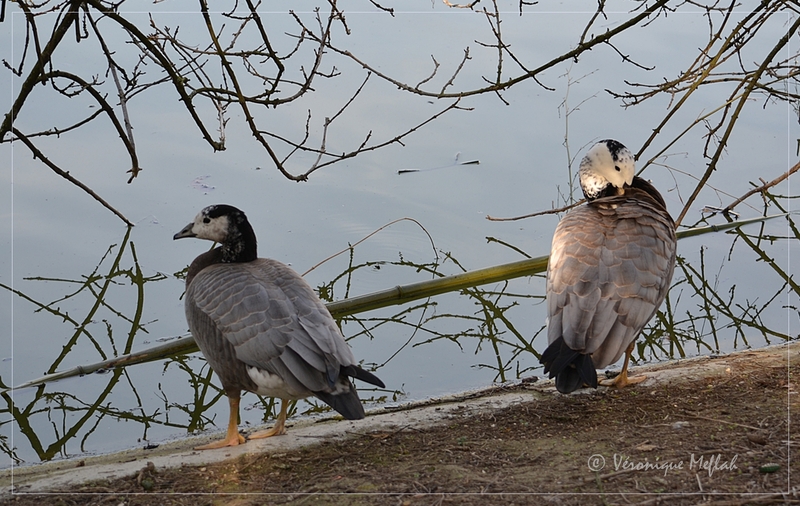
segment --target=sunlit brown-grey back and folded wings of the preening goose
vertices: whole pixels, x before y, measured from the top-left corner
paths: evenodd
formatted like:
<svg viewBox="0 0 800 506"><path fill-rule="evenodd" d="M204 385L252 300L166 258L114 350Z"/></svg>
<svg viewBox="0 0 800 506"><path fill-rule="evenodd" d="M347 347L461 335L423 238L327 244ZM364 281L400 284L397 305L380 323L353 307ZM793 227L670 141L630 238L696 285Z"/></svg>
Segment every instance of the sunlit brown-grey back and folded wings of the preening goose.
<svg viewBox="0 0 800 506"><path fill-rule="evenodd" d="M598 368L619 360L664 300L675 246L672 219L646 196L598 199L569 212L548 266L548 343L563 338Z"/></svg>

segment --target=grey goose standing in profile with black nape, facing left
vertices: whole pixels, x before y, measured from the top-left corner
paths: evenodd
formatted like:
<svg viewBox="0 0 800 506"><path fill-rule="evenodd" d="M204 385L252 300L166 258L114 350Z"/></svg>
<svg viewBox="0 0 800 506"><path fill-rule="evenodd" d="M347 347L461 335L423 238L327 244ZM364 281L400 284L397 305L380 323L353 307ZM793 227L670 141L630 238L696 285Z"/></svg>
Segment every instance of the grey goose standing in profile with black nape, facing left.
<svg viewBox="0 0 800 506"><path fill-rule="evenodd" d="M245 214L208 206L173 239L220 244L201 254L186 275L186 320L230 403L225 439L197 449L245 442L238 431L242 390L281 399L272 429L250 439L285 434L291 400L316 396L348 420L364 418L350 378L384 388L359 367L336 322L311 286L287 265L258 258Z"/></svg>

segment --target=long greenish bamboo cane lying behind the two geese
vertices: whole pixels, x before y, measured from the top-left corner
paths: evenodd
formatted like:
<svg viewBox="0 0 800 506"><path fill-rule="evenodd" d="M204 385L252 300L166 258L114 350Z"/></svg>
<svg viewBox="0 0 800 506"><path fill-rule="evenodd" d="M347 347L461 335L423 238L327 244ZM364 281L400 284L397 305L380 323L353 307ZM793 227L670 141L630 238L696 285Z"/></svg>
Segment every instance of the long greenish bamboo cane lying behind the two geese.
<svg viewBox="0 0 800 506"><path fill-rule="evenodd" d="M677 236L678 239L684 239L686 237L694 237L711 232L721 232L724 230L730 230L732 228L738 228L743 225L760 223L772 218L780 218L782 216L787 216L788 214L789 213L773 214L771 216L760 216L758 218L723 223L722 225L690 228L677 232ZM443 276L441 278L419 281L417 283L398 285L394 288L381 290L379 292L373 292L357 297L351 297L349 299L329 302L327 307L334 317L342 317L362 313L365 311L371 311L373 309L379 309L382 307L405 304L418 299L424 299L426 297L433 297L434 295L441 295L447 292L463 290L464 288L471 288L473 286L497 283L507 279L519 278L523 276L532 276L534 274L540 274L547 269L548 258L548 256L528 258L525 260L495 265L493 267L486 267L461 274L454 274L452 276ZM66 371L48 374L16 387L0 390L0 393L9 392L19 388L32 387L72 376L90 374L99 370L110 369L112 367L126 367L129 365L143 364L169 356L194 353L196 351L199 351L197 343L194 342L194 338L191 335L188 335L175 339L172 342L154 346L136 353L121 355L117 358L104 360L95 364L78 366Z"/></svg>

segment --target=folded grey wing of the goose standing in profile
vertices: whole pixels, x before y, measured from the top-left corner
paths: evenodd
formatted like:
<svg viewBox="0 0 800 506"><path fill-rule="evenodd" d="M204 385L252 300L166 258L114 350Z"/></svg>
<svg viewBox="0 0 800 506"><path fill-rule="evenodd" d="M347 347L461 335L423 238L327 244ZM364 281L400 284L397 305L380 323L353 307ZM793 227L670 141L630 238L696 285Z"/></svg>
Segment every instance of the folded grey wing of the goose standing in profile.
<svg viewBox="0 0 800 506"><path fill-rule="evenodd" d="M325 305L280 262L211 265L192 280L186 297L190 322L199 314L213 322L207 341L222 337L239 361L278 374L292 390L331 391L340 370L355 364Z"/></svg>

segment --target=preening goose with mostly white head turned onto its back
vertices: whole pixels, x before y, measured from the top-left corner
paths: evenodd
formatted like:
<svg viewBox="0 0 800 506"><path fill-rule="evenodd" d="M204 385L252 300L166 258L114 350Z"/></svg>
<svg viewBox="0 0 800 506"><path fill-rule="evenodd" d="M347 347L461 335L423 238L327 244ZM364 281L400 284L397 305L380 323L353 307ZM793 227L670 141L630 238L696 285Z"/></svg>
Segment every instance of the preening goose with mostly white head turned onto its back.
<svg viewBox="0 0 800 506"><path fill-rule="evenodd" d="M548 347L544 372L559 392L596 388L597 371L625 354L622 372L602 385L622 388L636 337L667 295L675 270L675 223L658 190L635 175L620 142L596 143L578 172L587 203L558 223L547 268Z"/></svg>

